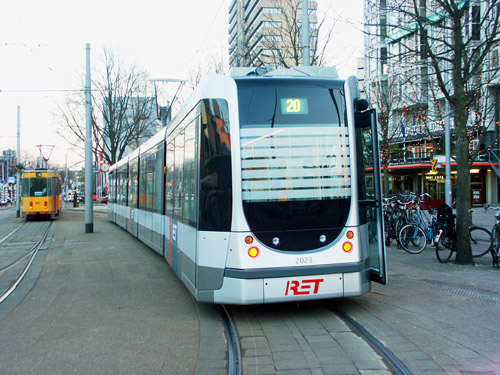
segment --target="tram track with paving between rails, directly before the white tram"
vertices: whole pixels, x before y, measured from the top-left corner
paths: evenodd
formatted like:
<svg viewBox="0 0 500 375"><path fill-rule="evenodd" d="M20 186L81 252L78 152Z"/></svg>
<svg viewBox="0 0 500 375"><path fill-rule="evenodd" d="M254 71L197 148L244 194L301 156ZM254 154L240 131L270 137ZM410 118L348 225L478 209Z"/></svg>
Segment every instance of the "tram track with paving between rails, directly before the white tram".
<svg viewBox="0 0 500 375"><path fill-rule="evenodd" d="M231 323L224 323L230 375L259 374L263 368L276 372L313 369L328 372L328 367L357 374L369 370L362 367L367 357L372 361L371 366L379 366L378 370L395 375L411 374L365 327L325 301L223 306L221 314L223 320L231 319L234 324L232 328ZM239 348L240 340L245 343L243 350ZM353 350L353 346L359 351Z"/></svg>

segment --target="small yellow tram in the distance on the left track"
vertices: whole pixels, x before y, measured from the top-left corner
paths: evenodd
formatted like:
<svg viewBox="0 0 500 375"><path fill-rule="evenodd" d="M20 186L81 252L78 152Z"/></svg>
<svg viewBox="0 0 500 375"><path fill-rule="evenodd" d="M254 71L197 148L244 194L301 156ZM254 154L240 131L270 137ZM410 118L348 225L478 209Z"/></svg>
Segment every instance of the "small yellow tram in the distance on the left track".
<svg viewBox="0 0 500 375"><path fill-rule="evenodd" d="M23 171L21 177L21 214L26 219L34 216L53 218L61 212L61 176L46 168Z"/></svg>

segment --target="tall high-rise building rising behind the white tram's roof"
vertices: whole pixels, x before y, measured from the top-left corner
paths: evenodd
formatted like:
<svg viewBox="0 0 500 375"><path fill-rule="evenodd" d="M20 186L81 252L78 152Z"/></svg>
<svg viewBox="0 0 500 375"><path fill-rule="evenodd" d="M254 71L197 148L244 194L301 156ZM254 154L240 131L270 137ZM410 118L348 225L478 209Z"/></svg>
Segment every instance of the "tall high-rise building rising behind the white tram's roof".
<svg viewBox="0 0 500 375"><path fill-rule="evenodd" d="M308 2L313 58L318 40L317 7L316 1ZM303 65L301 30L301 0L233 0L229 6L229 65Z"/></svg>

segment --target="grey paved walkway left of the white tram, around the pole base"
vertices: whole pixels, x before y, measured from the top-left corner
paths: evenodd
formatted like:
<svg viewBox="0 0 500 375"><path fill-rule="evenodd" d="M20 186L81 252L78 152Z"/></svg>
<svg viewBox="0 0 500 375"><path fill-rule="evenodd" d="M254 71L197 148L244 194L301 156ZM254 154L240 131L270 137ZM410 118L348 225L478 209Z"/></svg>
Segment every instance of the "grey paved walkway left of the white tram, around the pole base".
<svg viewBox="0 0 500 375"><path fill-rule="evenodd" d="M82 212L55 221L35 287L0 320L0 374L193 374L200 326L184 285L103 215L84 229Z"/></svg>

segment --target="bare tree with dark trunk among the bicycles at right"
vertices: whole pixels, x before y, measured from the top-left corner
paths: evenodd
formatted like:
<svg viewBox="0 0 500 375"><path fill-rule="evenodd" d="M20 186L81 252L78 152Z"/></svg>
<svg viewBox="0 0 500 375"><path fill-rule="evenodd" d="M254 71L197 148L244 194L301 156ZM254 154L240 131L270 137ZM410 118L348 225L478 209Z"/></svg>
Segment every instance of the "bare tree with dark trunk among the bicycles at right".
<svg viewBox="0 0 500 375"><path fill-rule="evenodd" d="M403 71L417 70L423 85L435 85L448 101L455 127L457 161L457 263L471 264L469 241L470 151L472 139L490 124L488 85L498 73L489 52L500 41L498 0L382 0L386 42L397 46L392 58ZM481 133L481 134L478 134Z"/></svg>

